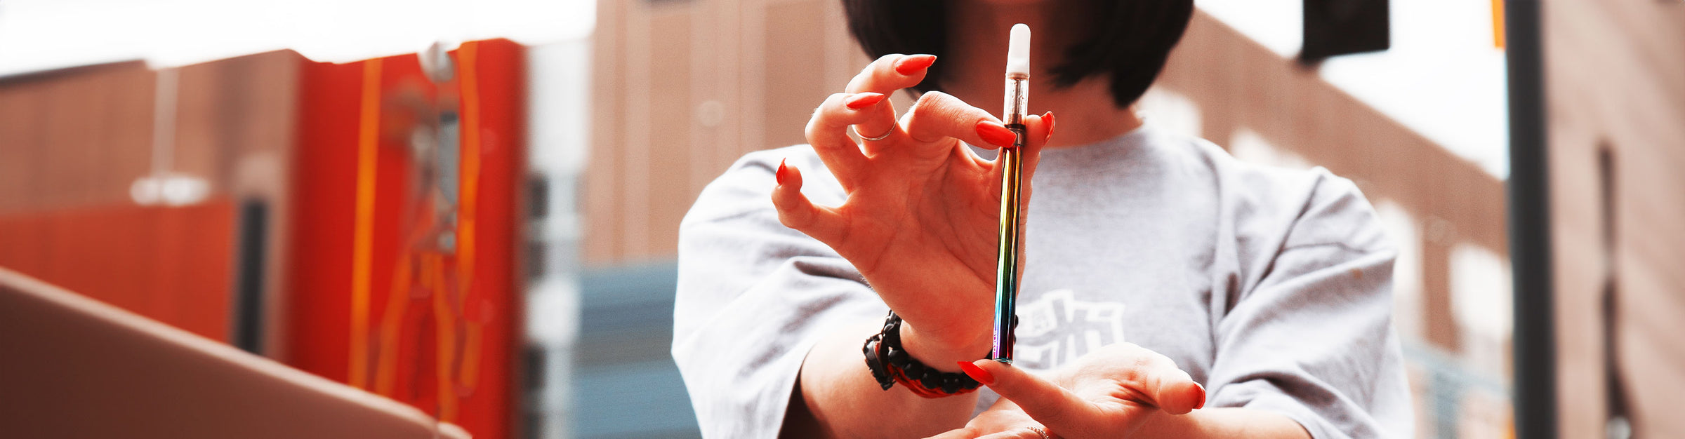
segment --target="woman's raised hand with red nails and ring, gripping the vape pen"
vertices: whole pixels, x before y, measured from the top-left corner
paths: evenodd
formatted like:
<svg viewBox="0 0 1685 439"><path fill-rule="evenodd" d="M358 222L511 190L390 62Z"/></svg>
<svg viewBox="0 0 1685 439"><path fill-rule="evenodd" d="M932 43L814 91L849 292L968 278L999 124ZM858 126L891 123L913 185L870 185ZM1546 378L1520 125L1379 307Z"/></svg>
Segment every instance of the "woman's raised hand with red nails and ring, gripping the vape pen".
<svg viewBox="0 0 1685 439"><path fill-rule="evenodd" d="M925 93L896 119L886 94L923 81L933 56L885 56L832 94L807 141L848 198L814 205L802 173L778 167L772 200L784 225L837 251L905 321L903 343L925 363L977 358L989 346L999 239L1001 168L960 141L1001 148L1013 133L989 111ZM1023 202L1053 118L1028 116ZM848 130L883 136L854 143Z"/></svg>

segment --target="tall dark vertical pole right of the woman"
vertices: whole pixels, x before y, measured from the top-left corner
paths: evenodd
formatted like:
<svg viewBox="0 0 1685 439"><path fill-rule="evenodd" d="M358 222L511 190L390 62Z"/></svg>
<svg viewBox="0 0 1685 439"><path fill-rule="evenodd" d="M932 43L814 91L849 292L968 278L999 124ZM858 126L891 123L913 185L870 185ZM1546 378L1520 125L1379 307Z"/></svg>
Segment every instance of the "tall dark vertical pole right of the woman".
<svg viewBox="0 0 1685 439"><path fill-rule="evenodd" d="M1550 183L1538 0L1505 2L1510 76L1510 261L1515 272L1515 432L1557 437Z"/></svg>

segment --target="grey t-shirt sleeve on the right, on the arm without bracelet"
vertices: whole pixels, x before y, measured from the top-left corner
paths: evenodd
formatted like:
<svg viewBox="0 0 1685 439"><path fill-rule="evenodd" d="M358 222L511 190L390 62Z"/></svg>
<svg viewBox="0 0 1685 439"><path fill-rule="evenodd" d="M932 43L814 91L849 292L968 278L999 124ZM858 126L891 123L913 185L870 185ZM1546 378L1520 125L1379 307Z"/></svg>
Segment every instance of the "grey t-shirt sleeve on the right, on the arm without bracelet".
<svg viewBox="0 0 1685 439"><path fill-rule="evenodd" d="M1286 234L1244 237L1267 251L1242 256L1250 281L1217 321L1208 405L1281 412L1318 439L1412 437L1395 251L1351 182L1313 173L1299 214L1274 227Z"/></svg>

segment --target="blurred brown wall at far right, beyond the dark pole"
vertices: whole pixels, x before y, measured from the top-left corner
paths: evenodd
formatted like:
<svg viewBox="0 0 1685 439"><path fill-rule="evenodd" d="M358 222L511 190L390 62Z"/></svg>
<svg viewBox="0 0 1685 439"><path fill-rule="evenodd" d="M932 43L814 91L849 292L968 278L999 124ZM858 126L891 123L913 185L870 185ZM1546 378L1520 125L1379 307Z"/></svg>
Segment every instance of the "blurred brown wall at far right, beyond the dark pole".
<svg viewBox="0 0 1685 439"><path fill-rule="evenodd" d="M1685 3L1542 5L1562 437L1604 432L1611 283L1634 437L1677 436L1685 431L1685 417L1673 415L1685 400L1677 390L1685 389ZM1613 158L1607 177L1599 151ZM1602 195L1606 178L1613 198Z"/></svg>

